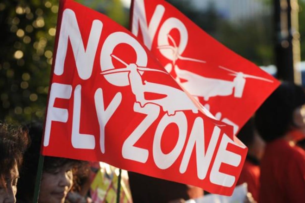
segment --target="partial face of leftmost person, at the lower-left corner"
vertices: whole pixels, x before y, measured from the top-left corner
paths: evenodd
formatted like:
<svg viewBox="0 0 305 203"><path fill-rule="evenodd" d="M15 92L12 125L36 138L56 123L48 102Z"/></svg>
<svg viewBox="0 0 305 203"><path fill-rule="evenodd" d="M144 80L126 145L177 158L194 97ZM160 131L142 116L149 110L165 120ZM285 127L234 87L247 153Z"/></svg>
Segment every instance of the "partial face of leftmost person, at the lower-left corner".
<svg viewBox="0 0 305 203"><path fill-rule="evenodd" d="M11 203L16 202L16 192L17 192L17 181L19 178L19 171L17 164L10 171L10 174L5 177L6 189L0 184L0 203Z"/></svg>

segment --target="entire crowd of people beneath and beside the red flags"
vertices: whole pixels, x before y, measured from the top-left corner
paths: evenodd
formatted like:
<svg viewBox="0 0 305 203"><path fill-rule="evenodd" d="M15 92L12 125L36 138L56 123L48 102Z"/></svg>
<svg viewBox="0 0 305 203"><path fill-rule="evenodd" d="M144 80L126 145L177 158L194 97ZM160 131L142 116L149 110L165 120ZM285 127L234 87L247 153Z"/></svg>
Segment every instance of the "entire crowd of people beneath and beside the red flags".
<svg viewBox="0 0 305 203"><path fill-rule="evenodd" d="M32 202L37 184L40 184L38 202L94 202L90 198L93 194L90 188L95 189L98 183L92 186L92 182L103 179L91 178L98 171L92 172L94 164L42 157L42 131L39 123L23 127L0 123L0 203ZM283 82L237 136L248 147L237 181L237 185L247 183L253 197L247 201L305 202L305 92L301 86ZM41 159L43 167L39 174ZM108 173L109 170L105 169L105 177L116 177L115 170ZM128 175L134 202L182 202L204 195L198 187L137 173L129 172ZM112 188L113 191L117 189ZM108 192L110 195L109 191L107 189L103 194ZM131 202L128 191L125 193L122 202ZM101 201L115 200L101 198Z"/></svg>

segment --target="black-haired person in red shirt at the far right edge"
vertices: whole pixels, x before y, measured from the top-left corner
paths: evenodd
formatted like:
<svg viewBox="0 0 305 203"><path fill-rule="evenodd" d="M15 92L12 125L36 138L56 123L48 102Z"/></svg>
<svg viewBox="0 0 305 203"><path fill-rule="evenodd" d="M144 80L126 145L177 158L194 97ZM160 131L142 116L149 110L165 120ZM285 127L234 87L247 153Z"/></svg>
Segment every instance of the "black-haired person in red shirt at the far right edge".
<svg viewBox="0 0 305 203"><path fill-rule="evenodd" d="M257 110L256 128L267 142L259 202L305 202L305 152L292 135L305 135L304 121L305 93L291 83L282 83Z"/></svg>

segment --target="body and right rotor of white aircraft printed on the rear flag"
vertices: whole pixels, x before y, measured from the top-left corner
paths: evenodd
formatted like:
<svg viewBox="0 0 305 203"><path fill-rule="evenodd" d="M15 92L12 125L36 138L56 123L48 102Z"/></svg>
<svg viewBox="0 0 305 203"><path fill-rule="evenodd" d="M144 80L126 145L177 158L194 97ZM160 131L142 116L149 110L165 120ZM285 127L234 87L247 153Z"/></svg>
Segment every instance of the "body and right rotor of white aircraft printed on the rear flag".
<svg viewBox="0 0 305 203"><path fill-rule="evenodd" d="M269 79L265 79L255 75L248 75L243 72L236 72L228 68L224 68L222 66L219 66L219 68L231 72L229 73L229 75L235 76L233 81L203 77L187 70L181 70L178 68L177 65L175 65L175 72L179 80L187 80L186 82L181 82L181 85L191 95L201 96L204 98L205 101L208 101L209 98L213 96L229 96L233 94L233 89L234 97L241 98L246 84L246 78L273 82Z"/></svg>

